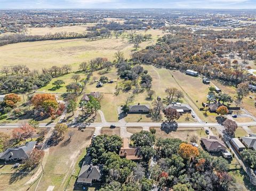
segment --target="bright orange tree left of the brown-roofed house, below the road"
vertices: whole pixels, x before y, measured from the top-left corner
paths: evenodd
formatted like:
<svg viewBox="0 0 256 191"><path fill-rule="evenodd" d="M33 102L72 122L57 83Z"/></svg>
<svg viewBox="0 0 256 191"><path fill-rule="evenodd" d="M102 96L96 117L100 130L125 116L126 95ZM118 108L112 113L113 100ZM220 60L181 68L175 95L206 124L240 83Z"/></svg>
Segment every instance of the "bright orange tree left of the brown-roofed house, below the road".
<svg viewBox="0 0 256 191"><path fill-rule="evenodd" d="M199 155L198 148L187 144L187 143L181 143L179 147L179 154L183 159L190 160L191 157L196 157Z"/></svg>

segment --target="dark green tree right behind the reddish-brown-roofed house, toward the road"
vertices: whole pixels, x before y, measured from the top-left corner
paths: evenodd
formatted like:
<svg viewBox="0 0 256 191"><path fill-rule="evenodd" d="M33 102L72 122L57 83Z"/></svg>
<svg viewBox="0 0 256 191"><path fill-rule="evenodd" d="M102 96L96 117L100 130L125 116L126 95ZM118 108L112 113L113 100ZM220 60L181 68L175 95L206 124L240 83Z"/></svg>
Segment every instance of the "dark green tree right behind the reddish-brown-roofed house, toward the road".
<svg viewBox="0 0 256 191"><path fill-rule="evenodd" d="M136 132L131 136L131 140L135 146L153 146L155 143L155 135L149 131Z"/></svg>

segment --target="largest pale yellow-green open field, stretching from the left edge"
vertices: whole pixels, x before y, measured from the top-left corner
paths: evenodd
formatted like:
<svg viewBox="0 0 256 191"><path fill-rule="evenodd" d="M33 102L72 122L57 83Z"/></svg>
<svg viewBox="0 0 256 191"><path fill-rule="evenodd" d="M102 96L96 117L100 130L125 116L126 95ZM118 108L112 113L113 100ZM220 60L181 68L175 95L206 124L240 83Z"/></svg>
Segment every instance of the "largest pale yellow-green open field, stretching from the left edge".
<svg viewBox="0 0 256 191"><path fill-rule="evenodd" d="M164 35L161 30L137 31L137 33L153 35L153 39L143 41L139 49L155 44L157 38ZM52 65L61 67L64 64L70 64L76 71L79 63L96 57L107 57L113 61L117 51L124 52L125 57L129 59L134 51L133 44L129 43L128 39L122 40L115 37L94 41L63 39L17 43L1 46L0 60L1 65L26 64L30 69L38 70L50 68Z"/></svg>

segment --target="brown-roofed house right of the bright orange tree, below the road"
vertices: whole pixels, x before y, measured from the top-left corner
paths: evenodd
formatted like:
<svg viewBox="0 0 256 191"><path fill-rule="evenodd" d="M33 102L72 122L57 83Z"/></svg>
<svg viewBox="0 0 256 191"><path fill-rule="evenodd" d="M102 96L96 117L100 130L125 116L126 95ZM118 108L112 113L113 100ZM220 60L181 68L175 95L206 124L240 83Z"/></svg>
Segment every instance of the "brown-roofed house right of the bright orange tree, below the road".
<svg viewBox="0 0 256 191"><path fill-rule="evenodd" d="M201 144L208 152L220 152L227 149L225 143L222 142L222 140L218 140L215 136L210 136L210 138L201 138Z"/></svg>

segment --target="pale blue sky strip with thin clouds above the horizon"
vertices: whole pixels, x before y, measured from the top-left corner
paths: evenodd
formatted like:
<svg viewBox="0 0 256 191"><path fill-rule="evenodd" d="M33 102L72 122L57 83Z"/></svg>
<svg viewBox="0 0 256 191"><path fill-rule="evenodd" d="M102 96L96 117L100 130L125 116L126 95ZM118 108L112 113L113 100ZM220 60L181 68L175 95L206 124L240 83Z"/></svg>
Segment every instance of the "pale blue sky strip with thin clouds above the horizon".
<svg viewBox="0 0 256 191"><path fill-rule="evenodd" d="M0 9L256 9L256 0L0 0Z"/></svg>

